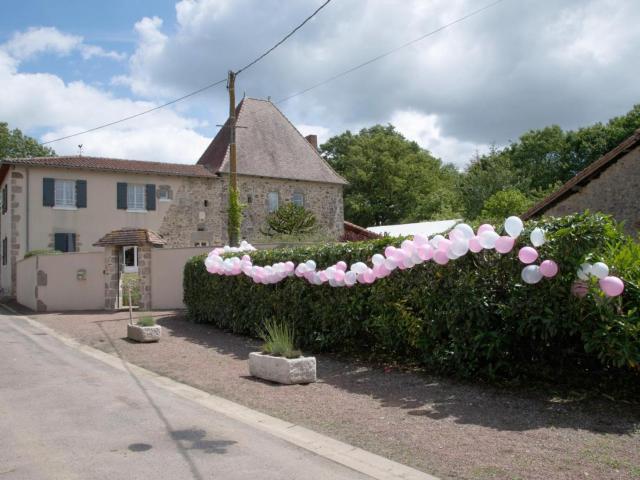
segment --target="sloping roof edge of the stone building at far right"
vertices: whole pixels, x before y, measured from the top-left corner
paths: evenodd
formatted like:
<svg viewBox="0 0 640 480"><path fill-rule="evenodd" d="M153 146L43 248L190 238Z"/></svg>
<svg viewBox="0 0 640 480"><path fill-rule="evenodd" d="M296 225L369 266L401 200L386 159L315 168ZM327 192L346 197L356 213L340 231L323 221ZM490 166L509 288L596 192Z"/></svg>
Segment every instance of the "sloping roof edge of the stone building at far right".
<svg viewBox="0 0 640 480"><path fill-rule="evenodd" d="M593 162L587 168L576 174L571 180L562 185L558 190L553 192L544 200L531 207L523 216L523 219L528 219L544 213L546 210L560 202L564 198L573 195L574 189L578 186L584 186L591 180L598 178L600 174L606 170L610 165L615 163L619 158L629 153L631 150L640 145L640 129L636 130L633 135L624 140L620 145L615 147L608 153L605 153L598 160Z"/></svg>

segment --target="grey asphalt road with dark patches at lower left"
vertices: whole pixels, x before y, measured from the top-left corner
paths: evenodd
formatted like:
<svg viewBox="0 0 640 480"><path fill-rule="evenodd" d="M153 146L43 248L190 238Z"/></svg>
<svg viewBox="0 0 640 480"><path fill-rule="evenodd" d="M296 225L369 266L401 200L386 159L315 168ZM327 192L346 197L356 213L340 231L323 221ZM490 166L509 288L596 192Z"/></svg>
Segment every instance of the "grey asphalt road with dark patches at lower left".
<svg viewBox="0 0 640 480"><path fill-rule="evenodd" d="M0 314L0 479L367 479Z"/></svg>

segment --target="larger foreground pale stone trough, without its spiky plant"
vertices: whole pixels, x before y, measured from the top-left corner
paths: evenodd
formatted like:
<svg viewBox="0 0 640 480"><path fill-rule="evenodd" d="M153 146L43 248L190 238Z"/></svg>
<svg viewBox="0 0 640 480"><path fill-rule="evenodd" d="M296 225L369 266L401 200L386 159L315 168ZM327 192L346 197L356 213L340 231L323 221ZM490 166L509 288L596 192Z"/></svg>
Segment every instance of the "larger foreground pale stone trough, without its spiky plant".
<svg viewBox="0 0 640 480"><path fill-rule="evenodd" d="M284 358L261 352L249 354L249 373L277 383L313 383L316 381L316 357Z"/></svg>

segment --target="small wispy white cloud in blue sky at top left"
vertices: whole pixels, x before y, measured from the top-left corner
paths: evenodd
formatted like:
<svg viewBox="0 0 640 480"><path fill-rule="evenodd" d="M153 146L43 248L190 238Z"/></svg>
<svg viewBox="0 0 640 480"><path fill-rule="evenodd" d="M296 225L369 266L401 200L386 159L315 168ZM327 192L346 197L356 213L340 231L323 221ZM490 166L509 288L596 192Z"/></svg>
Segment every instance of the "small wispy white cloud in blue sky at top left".
<svg viewBox="0 0 640 480"><path fill-rule="evenodd" d="M70 55L74 51L80 52L85 60L92 57L123 60L126 57L122 53L106 51L102 47L86 44L81 36L70 35L54 27L32 27L24 32L17 32L0 45L0 50L17 61L27 60L39 53Z"/></svg>

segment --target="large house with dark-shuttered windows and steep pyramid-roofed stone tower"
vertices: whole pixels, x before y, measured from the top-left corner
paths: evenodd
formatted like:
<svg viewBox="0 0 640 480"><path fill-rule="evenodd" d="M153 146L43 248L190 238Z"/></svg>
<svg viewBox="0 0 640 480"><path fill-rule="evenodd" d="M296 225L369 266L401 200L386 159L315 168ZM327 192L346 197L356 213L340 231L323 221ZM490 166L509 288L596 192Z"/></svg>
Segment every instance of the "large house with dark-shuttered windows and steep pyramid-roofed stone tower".
<svg viewBox="0 0 640 480"><path fill-rule="evenodd" d="M312 211L327 238L343 234L346 183L271 103L245 98L237 107L241 233L252 242L283 202ZM15 293L16 262L27 252L100 251L122 228L158 232L165 248L227 241L228 129L195 165L84 156L0 162L0 287ZM123 246L123 266L137 268L137 247Z"/></svg>

